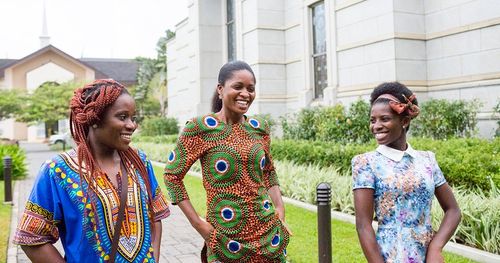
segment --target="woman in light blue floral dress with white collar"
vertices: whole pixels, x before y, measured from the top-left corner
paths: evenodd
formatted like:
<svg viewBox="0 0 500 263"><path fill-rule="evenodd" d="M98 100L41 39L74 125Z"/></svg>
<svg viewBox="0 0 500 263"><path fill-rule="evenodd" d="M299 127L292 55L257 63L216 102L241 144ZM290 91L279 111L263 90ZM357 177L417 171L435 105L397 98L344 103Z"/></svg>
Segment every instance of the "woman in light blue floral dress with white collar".
<svg viewBox="0 0 500 263"><path fill-rule="evenodd" d="M379 146L352 160L356 229L363 252L368 262L443 262L442 249L461 214L434 153L414 150L406 141L410 121L419 113L415 95L398 82L383 83L370 102L370 130ZM431 225L434 196L445 213L437 232Z"/></svg>

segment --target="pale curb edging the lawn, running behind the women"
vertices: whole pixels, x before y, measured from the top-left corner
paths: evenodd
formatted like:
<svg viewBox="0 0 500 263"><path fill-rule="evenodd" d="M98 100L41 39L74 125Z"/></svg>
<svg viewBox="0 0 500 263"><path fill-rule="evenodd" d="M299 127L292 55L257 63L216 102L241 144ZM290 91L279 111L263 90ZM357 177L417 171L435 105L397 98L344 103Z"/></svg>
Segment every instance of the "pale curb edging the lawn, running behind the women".
<svg viewBox="0 0 500 263"><path fill-rule="evenodd" d="M165 164L161 163L161 162L151 161L151 163L153 165L156 165L156 166L165 167ZM191 176L195 176L195 177L199 177L199 178L202 177L201 173L199 173L199 172L189 171L188 173ZM318 208L316 205L304 203L302 201L291 199L291 198L288 198L285 196L283 196L282 198L283 198L283 202L285 202L287 204L291 204L291 205L294 205L294 206L297 206L297 207L300 207L300 208L303 208L303 209L306 209L308 211L312 211L315 213L318 211ZM353 215L344 214L344 213L337 212L337 211L332 211L331 216L333 219L336 219L339 221L351 223L353 225L356 224L356 217L354 217ZM378 227L377 222L374 221L372 223L372 226L374 229L377 229L377 227ZM466 258L475 260L477 262L481 262L481 263L498 263L498 262L500 262L500 255L493 254L493 253L490 253L490 252L487 252L484 250L480 250L477 248L457 244L457 243L454 243L451 241L449 241L446 244L446 246L444 247L443 250L450 252L450 253L453 253L453 254L460 255L462 257L466 257Z"/></svg>

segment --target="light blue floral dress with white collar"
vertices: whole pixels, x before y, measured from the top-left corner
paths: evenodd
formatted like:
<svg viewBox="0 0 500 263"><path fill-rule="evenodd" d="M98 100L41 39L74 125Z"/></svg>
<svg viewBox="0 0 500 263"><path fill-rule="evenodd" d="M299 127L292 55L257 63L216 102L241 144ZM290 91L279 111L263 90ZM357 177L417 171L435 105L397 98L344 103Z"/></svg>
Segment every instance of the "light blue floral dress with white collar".
<svg viewBox="0 0 500 263"><path fill-rule="evenodd" d="M434 153L380 145L352 159L353 189L374 190L377 243L385 262L425 262L435 188L446 183Z"/></svg>

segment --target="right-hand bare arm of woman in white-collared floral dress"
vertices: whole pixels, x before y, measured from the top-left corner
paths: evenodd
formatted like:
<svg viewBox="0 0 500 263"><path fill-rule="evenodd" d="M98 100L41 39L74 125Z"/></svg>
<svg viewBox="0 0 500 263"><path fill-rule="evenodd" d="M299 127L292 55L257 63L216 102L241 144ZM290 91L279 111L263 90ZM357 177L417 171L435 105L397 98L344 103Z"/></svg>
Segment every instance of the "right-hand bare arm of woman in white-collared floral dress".
<svg viewBox="0 0 500 263"><path fill-rule="evenodd" d="M451 187L447 183L436 188L435 195L444 211L444 217L437 233L429 244L427 262L443 262L441 251L455 233L462 218L457 200L455 200Z"/></svg>

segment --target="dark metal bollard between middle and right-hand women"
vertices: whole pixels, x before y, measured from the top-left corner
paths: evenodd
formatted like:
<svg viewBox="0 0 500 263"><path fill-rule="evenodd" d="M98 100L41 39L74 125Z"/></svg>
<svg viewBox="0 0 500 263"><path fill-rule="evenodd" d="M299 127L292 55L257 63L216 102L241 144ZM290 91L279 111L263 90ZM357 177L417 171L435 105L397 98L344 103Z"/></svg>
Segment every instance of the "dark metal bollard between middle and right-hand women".
<svg viewBox="0 0 500 263"><path fill-rule="evenodd" d="M316 187L318 202L318 256L319 263L332 262L332 227L331 208L332 190L328 183L320 183Z"/></svg>

